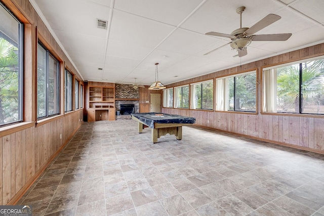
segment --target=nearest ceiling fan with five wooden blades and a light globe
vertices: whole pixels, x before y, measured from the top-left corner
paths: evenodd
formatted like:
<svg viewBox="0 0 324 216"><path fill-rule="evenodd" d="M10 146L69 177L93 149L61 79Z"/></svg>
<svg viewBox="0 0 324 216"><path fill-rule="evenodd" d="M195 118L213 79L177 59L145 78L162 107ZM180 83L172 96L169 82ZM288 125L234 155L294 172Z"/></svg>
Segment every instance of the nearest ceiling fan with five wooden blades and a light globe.
<svg viewBox="0 0 324 216"><path fill-rule="evenodd" d="M285 41L290 38L292 33L282 33L282 34L254 34L261 29L267 27L268 25L274 23L275 21L278 21L281 19L280 16L275 14L268 14L266 17L264 17L262 20L254 24L250 28L242 28L242 13L245 11L245 7L239 7L236 9L236 13L240 15L240 28L234 30L231 34L224 34L224 33L218 33L218 32L207 32L207 35L212 36L218 36L218 37L228 37L232 41L216 48L215 50L212 50L204 55L208 55L222 47L225 47L226 45L230 45L233 50L237 50L238 56L246 56L248 55L247 47L251 44L252 40L254 41Z"/></svg>

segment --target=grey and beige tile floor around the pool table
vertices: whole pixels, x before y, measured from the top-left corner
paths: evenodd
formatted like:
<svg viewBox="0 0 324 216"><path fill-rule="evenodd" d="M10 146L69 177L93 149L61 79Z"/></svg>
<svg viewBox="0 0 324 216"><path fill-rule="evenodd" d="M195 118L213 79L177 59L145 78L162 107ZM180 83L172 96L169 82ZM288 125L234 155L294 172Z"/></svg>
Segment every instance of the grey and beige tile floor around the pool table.
<svg viewBox="0 0 324 216"><path fill-rule="evenodd" d="M17 204L33 215L324 215L324 155L211 129L85 122Z"/></svg>

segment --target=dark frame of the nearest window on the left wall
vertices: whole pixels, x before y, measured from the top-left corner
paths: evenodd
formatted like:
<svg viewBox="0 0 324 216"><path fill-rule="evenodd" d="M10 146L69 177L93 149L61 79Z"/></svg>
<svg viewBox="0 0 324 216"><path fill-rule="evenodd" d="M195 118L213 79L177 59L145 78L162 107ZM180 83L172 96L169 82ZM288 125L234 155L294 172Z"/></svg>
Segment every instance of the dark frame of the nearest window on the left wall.
<svg viewBox="0 0 324 216"><path fill-rule="evenodd" d="M17 120L15 121L11 121L8 123L3 123L0 124L0 127L4 127L4 126L9 126L12 124L17 124L17 123L21 123L23 122L23 104L24 104L24 34L25 34L25 29L24 29L24 24L23 22L21 22L1 1L0 1L0 7L2 7L5 11L8 12L8 14L17 21L18 23L18 44L17 44L17 48L18 48L18 105L17 105L17 109L18 109L18 116L17 116ZM6 39L6 41L8 41ZM8 41L10 44L12 44L11 41Z"/></svg>

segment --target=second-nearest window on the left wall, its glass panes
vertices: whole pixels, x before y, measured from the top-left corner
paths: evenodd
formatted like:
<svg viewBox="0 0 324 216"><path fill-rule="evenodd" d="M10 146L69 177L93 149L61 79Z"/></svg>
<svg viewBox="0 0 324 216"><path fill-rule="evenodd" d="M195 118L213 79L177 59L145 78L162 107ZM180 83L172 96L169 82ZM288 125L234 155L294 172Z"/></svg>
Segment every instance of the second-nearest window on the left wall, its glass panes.
<svg viewBox="0 0 324 216"><path fill-rule="evenodd" d="M59 87L59 62L38 43L37 118L59 113Z"/></svg>

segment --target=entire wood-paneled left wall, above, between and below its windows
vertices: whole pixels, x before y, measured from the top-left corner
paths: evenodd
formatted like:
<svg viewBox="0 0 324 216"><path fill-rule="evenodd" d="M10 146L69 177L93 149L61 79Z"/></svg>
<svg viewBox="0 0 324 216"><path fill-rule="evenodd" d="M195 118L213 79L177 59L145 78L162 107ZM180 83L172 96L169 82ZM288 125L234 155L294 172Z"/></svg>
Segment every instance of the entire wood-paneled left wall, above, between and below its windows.
<svg viewBox="0 0 324 216"><path fill-rule="evenodd" d="M61 115L36 123L37 39L61 62L62 68L68 68L81 83L83 80L29 1L2 2L25 24L25 122L0 128L0 205L6 205L15 204L83 122L83 109L64 113L64 88L61 88ZM62 68L61 83L64 83Z"/></svg>

